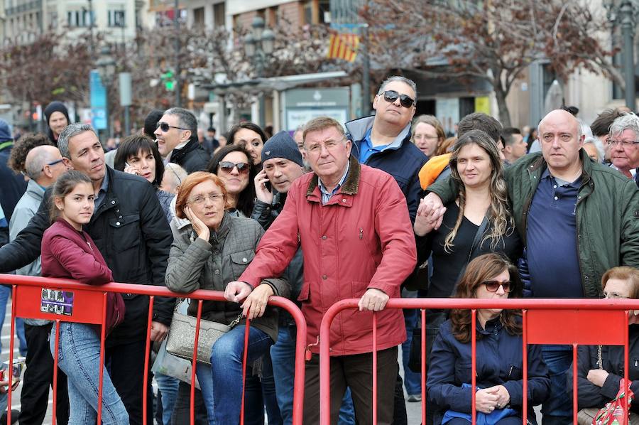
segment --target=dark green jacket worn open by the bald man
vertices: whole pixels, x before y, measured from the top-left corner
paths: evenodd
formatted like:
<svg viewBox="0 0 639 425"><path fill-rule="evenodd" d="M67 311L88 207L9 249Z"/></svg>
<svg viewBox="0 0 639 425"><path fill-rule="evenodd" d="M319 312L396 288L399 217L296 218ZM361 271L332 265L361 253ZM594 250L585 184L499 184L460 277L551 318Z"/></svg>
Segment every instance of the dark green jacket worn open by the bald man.
<svg viewBox="0 0 639 425"><path fill-rule="evenodd" d="M639 190L634 181L613 168L594 163L584 149L581 156L581 188L577 195L577 249L581 285L587 298L602 294L601 276L616 266L639 268ZM542 154L528 154L504 169L515 225L526 244L526 219L546 161ZM457 196L457 185L448 178L427 188L442 202ZM552 243L552 241L548 241Z"/></svg>

